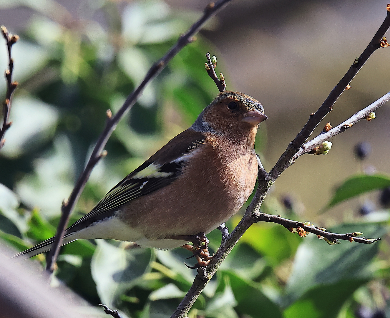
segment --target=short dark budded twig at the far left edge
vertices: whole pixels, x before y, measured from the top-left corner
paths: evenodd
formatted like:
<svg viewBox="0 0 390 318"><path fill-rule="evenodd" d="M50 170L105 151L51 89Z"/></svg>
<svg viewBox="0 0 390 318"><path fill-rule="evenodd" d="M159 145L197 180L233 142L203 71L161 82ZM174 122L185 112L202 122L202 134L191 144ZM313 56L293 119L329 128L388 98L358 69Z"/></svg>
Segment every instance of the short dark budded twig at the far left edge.
<svg viewBox="0 0 390 318"><path fill-rule="evenodd" d="M14 70L14 59L12 59L11 56L11 48L12 45L16 43L16 41L19 40L19 36L12 35L8 33L8 30L4 25L1 27L1 31L3 33L5 44L7 45L8 49L8 69L5 71L5 79L7 80L7 91L5 92L5 99L3 101L3 126L0 129L0 149L4 146L5 139L4 134L5 131L8 130L8 128L11 127L12 122L9 121L9 114L11 112L11 98L12 94L16 89L16 86L18 86L18 82L12 82L12 71Z"/></svg>

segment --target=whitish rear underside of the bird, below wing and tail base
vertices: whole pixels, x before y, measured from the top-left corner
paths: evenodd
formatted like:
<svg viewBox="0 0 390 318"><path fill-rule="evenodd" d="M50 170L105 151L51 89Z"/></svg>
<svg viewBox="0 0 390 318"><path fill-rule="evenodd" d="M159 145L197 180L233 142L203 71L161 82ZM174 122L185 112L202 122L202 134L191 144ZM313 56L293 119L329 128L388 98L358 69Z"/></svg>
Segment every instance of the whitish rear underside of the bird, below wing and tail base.
<svg viewBox="0 0 390 318"><path fill-rule="evenodd" d="M119 241L135 242L142 247L155 247L157 249L174 249L188 243L188 241L180 240L150 240L142 233L126 226L115 217L96 222L85 229L69 235L68 238L72 240L80 238L87 240L94 238L110 238Z"/></svg>

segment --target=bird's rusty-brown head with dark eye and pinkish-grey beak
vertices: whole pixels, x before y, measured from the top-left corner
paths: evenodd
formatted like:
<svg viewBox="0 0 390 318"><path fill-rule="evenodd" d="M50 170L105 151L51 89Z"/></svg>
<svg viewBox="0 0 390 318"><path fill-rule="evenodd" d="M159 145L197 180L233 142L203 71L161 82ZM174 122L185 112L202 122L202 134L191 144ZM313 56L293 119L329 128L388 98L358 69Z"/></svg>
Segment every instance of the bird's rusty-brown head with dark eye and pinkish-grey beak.
<svg viewBox="0 0 390 318"><path fill-rule="evenodd" d="M259 101L240 92L226 91L218 94L203 110L193 128L246 135L256 132L259 124L266 119L264 107Z"/></svg>

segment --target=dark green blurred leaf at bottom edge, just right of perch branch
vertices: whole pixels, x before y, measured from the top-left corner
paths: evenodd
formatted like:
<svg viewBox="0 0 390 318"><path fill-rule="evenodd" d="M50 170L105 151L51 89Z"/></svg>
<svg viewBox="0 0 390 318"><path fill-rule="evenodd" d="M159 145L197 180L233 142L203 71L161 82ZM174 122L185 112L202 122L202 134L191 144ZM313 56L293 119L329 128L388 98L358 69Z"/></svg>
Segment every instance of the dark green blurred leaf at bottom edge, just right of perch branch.
<svg viewBox="0 0 390 318"><path fill-rule="evenodd" d="M253 318L282 317L279 307L253 283L245 281L232 272L223 272L223 275L229 277L230 286L238 303L234 308L240 315L248 314Z"/></svg>

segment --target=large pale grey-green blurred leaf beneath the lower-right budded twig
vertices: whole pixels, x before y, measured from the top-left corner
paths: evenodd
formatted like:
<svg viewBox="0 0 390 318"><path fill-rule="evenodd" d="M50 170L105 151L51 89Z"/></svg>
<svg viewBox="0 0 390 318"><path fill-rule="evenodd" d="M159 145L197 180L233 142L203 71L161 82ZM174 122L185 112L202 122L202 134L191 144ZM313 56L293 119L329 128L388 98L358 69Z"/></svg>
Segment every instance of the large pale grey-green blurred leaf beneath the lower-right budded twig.
<svg viewBox="0 0 390 318"><path fill-rule="evenodd" d="M378 224L348 224L327 230L333 233L360 231L366 237L380 237L386 233L385 227ZM341 244L331 246L315 235L308 236L295 254L285 287L287 304L314 286L371 277L373 273L369 265L378 249L379 242L360 244L341 241Z"/></svg>

